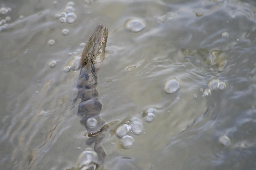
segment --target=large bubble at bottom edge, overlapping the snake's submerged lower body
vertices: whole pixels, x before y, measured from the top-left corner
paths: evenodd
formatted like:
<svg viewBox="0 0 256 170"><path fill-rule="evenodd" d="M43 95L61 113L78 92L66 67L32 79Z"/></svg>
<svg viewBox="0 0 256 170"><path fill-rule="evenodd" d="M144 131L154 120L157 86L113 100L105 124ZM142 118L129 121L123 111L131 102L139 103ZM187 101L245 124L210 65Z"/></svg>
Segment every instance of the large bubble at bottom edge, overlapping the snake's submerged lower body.
<svg viewBox="0 0 256 170"><path fill-rule="evenodd" d="M96 166L91 164L92 162L98 162L98 154L91 148L86 148L77 159L78 168L90 169L91 166Z"/></svg>

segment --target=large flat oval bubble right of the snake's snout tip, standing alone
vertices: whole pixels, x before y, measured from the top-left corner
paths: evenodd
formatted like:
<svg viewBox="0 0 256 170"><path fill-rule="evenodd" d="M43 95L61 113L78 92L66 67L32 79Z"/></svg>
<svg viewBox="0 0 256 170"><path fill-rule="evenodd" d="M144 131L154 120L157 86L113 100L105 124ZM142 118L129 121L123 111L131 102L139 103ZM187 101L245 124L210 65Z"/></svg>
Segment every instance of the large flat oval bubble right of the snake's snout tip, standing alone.
<svg viewBox="0 0 256 170"><path fill-rule="evenodd" d="M124 27L130 32L140 32L146 27L146 22L142 19L126 20Z"/></svg>

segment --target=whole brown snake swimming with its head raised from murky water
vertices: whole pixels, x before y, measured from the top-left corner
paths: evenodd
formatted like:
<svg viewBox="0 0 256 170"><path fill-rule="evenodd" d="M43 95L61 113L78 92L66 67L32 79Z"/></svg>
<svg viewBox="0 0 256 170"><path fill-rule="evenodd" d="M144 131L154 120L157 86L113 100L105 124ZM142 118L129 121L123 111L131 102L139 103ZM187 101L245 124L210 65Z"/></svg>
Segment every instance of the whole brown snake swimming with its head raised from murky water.
<svg viewBox="0 0 256 170"><path fill-rule="evenodd" d="M94 144L94 151L98 155L96 162L90 162L88 165L81 165L80 168L91 169L96 166L96 169L103 164L107 153L102 146L102 140L106 134L102 131L108 127L108 124L100 118L102 110L102 103L98 98L98 84L97 72L102 67L106 58L106 43L108 39L108 28L104 24L100 24L90 36L80 60L80 74L76 87L78 88L78 95L73 101L74 103L80 98L81 102L78 105L77 115L82 116L80 123L87 129L86 145ZM92 168L94 169L94 168Z"/></svg>

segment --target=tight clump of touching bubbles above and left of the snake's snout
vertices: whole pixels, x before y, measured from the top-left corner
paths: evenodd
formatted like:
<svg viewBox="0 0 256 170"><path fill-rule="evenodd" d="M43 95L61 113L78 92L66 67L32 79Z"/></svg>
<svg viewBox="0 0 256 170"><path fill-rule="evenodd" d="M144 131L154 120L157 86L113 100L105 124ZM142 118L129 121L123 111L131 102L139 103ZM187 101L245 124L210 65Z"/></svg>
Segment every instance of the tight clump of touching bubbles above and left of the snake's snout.
<svg viewBox="0 0 256 170"><path fill-rule="evenodd" d="M64 12L56 14L55 17L59 19L60 22L74 23L76 21L74 2L68 2L64 8Z"/></svg>

